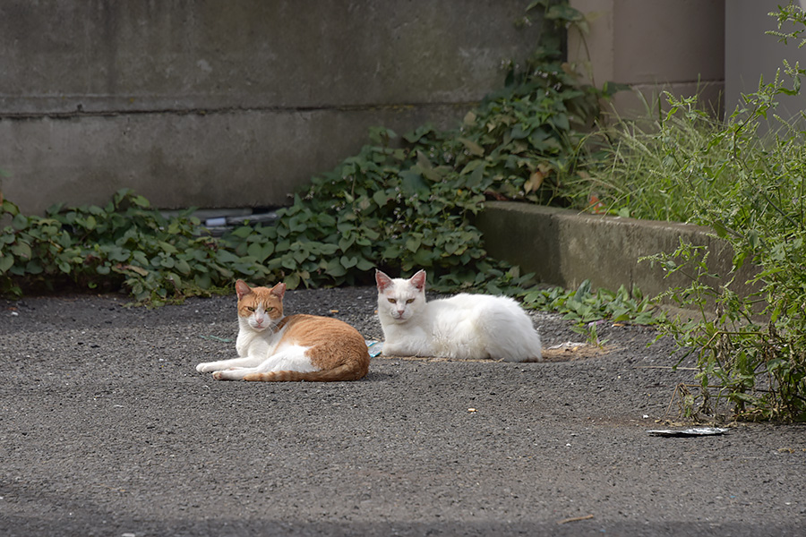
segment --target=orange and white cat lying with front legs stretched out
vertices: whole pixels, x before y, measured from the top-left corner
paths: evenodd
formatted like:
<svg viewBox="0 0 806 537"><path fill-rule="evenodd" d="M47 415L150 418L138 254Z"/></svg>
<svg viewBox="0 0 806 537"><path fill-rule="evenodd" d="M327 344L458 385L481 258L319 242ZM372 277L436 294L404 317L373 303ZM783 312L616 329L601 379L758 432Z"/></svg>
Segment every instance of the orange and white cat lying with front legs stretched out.
<svg viewBox="0 0 806 537"><path fill-rule="evenodd" d="M366 341L346 322L315 315L283 315L286 285L250 287L236 282L238 358L203 362L219 380L362 379L369 370Z"/></svg>

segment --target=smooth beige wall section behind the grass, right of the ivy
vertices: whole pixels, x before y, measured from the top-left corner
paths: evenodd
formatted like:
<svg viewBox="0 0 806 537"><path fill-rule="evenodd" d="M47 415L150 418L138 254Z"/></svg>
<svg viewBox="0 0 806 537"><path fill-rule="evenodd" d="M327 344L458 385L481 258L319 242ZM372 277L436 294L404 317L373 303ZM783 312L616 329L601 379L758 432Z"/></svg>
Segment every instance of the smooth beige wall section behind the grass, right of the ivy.
<svg viewBox="0 0 806 537"><path fill-rule="evenodd" d="M677 96L699 92L718 110L725 86L725 0L570 4L586 14L590 29L587 35L569 32L570 61L598 86L614 81L634 89L613 99L619 115L646 114L645 102L656 106L665 90Z"/></svg>

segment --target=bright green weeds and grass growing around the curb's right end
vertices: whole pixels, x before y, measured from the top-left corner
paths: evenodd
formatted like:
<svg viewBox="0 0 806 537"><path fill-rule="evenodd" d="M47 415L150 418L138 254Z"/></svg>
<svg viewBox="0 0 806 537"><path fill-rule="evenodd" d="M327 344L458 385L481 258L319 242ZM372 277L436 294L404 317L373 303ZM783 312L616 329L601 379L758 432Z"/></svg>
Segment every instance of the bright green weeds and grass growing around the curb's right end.
<svg viewBox="0 0 806 537"><path fill-rule="evenodd" d="M779 38L806 28L794 4L771 14ZM798 30L780 31L790 23ZM716 391L744 418L806 419L806 115L776 114L780 98L799 94L804 73L785 62L724 123L697 98L668 95L671 108L654 130L626 128L611 138L607 166L590 183L613 210L709 226L733 247L729 275L709 273L707 250L687 243L648 260L690 276L689 286L663 296L699 317L665 332L697 355L699 397ZM759 268L750 296L734 291L746 262Z"/></svg>

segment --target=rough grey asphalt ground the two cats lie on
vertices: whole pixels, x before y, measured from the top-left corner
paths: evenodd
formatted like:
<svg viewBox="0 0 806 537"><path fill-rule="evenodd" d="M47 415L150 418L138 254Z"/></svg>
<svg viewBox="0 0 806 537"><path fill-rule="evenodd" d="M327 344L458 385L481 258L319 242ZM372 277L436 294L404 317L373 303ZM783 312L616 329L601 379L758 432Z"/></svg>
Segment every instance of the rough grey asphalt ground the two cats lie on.
<svg viewBox="0 0 806 537"><path fill-rule="evenodd" d="M806 534L806 429L664 438L672 345L600 329L542 363L375 358L357 382L219 382L235 297L0 302L0 534ZM382 337L373 288L288 312ZM579 341L536 314L545 346ZM229 340L229 341L227 341Z"/></svg>

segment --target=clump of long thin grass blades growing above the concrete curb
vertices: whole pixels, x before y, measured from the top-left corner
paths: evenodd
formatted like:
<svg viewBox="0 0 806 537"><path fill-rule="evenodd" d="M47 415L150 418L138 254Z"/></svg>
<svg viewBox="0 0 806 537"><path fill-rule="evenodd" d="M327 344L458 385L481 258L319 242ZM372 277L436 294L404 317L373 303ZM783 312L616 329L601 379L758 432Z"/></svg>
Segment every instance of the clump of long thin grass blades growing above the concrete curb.
<svg viewBox="0 0 806 537"><path fill-rule="evenodd" d="M569 184L575 208L592 209L594 200L597 212L615 216L703 224L699 209L731 191L730 175L718 169L732 148L713 143L724 124L697 97L666 97L672 107L665 117L650 119L645 103L645 117L591 134L597 150L582 179Z"/></svg>

